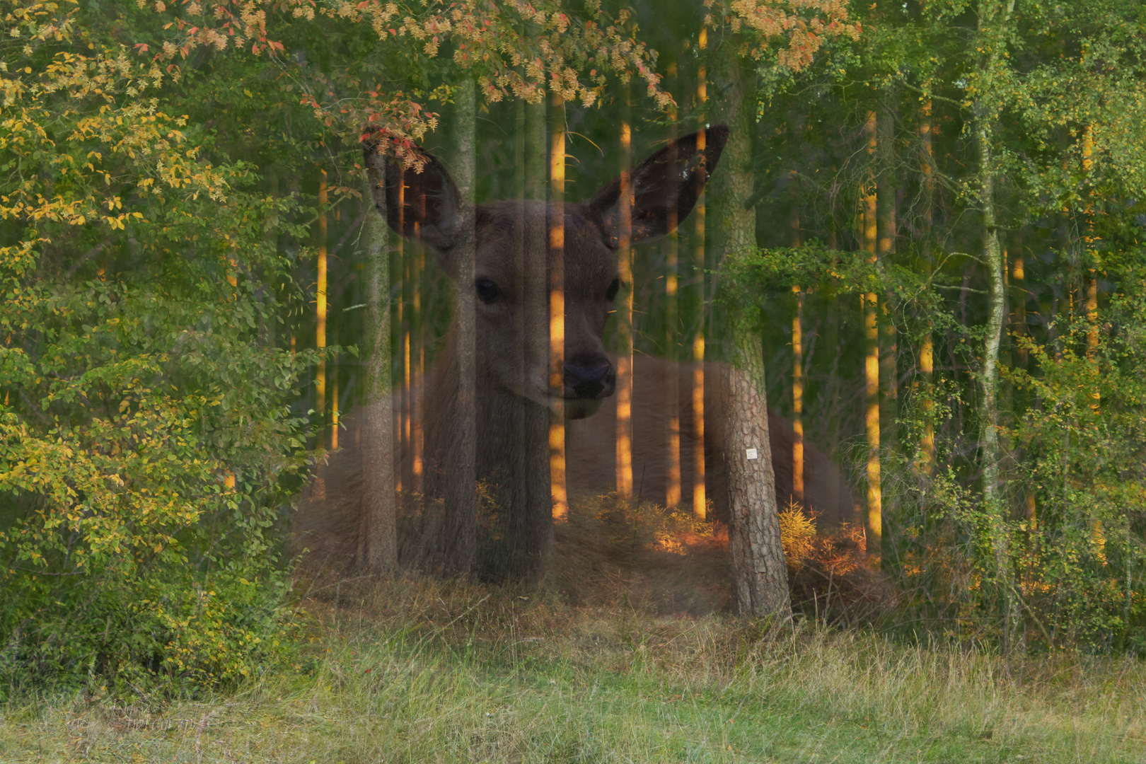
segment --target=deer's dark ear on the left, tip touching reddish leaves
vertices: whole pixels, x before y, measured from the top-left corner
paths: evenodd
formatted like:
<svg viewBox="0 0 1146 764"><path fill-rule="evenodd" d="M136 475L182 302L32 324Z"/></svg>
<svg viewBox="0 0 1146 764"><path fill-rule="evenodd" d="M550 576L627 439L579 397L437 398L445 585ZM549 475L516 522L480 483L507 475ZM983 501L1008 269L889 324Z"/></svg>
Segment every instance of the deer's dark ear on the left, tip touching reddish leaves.
<svg viewBox="0 0 1146 764"><path fill-rule="evenodd" d="M362 151L375 207L390 227L439 253L454 246L458 238L462 195L446 167L422 149L414 150L424 160L421 172L402 167L394 157L380 155L377 141L366 141Z"/></svg>

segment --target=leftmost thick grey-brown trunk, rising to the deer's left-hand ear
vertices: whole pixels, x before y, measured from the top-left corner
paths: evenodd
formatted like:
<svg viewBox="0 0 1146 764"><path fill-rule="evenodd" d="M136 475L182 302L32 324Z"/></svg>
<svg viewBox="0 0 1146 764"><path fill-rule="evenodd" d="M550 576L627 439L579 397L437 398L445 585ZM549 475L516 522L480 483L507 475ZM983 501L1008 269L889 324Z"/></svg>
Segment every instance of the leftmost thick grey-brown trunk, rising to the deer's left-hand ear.
<svg viewBox="0 0 1146 764"><path fill-rule="evenodd" d="M385 210L382 157L370 165L363 202ZM363 422L360 428L362 494L355 564L370 573L398 568L398 505L394 490L394 418L390 380L390 254L384 214L368 211L362 221L361 255L366 265L367 321L363 337Z"/></svg>

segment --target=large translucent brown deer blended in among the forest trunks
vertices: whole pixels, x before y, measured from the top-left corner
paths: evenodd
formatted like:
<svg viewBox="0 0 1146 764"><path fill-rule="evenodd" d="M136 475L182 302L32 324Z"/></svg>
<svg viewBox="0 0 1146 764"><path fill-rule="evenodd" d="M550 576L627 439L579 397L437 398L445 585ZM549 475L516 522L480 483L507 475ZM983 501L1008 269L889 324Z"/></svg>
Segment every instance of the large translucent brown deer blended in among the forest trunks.
<svg viewBox="0 0 1146 764"><path fill-rule="evenodd" d="M421 171L403 170L392 158L379 160L368 143L371 186L378 212L398 235L426 245L458 290L472 290L474 314L476 468L477 479L494 487L495 504L505 523L500 542L481 556L479 568L497 578L540 572L552 538L552 502L549 483L548 428L554 411L566 420L566 465L570 493L609 490L615 452L617 361L604 347L606 322L621 289L618 250L622 237L631 245L656 242L669 235L696 206L705 183L716 168L728 140L723 125L669 141L635 165L627 176L614 178L595 195L580 202L496 200L466 204L445 165L416 149ZM384 167L378 167L384 164ZM626 192L626 188L630 189ZM630 204L629 214L622 205ZM554 246L556 226L563 246ZM471 246L473 271L461 274L460 251ZM552 385L548 316L555 269L562 274L564 294L564 364L562 385ZM470 281L472 278L472 281ZM427 375L421 426L424 433L424 485L427 501L441 498L445 474L450 468L458 420L461 389L457 326L453 316L444 347ZM681 462L690 464L706 455L714 515L727 515L722 490L723 430L720 420L722 386L706 385L706 411L713 412L700 442L684 400L691 380L689 364L636 356L633 371L634 475L642 476L645 498L665 496L667 449L664 432L667 412L677 407L681 420ZM706 376L719 380L719 365L707 364ZM674 377L680 384L667 384ZM667 391L682 391L677 401ZM558 400L559 399L559 400ZM602 411L604 409L604 411ZM347 430L354 417L344 418ZM780 505L792 487L790 425L769 418L772 455ZM343 442L353 443L353 436ZM327 486L352 497L358 490L361 459L350 451L336 454L324 467ZM850 493L831 460L814 447L806 448L809 467L807 504L837 519L850 513ZM400 458L410 459L409 454ZM825 488L817 488L823 486ZM324 505L304 511L296 521L298 534L314 549L353 542L356 522L345 517L358 506L328 497ZM306 510L307 507L304 507ZM447 509L448 511L448 509ZM325 517L315 517L323 514ZM307 517L308 515L308 517ZM447 519L446 526L449 527ZM330 546L335 549L335 546Z"/></svg>

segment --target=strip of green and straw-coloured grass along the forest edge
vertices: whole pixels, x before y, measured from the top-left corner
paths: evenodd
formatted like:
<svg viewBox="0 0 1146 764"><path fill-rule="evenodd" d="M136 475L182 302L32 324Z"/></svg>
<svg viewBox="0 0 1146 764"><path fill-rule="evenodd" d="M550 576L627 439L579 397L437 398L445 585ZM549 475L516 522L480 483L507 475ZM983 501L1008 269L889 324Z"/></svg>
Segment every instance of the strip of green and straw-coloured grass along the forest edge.
<svg viewBox="0 0 1146 764"><path fill-rule="evenodd" d="M0 762L1144 762L1146 667L434 580L308 600L313 671L0 709ZM351 593L347 593L351 592Z"/></svg>

